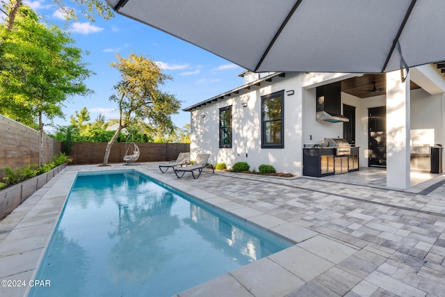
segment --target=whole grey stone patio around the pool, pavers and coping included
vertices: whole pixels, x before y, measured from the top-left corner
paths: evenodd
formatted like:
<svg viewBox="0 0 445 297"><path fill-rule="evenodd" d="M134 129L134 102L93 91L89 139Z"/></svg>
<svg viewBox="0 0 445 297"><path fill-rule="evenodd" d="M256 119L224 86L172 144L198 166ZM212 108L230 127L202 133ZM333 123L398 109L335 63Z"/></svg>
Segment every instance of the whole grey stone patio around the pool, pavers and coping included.
<svg viewBox="0 0 445 297"><path fill-rule="evenodd" d="M134 169L296 242L177 296L444 296L445 175L385 186L385 171L323 179L205 172L156 163L69 166L0 221L0 280L34 280L78 171ZM2 283L3 284L3 283ZM0 287L26 296L29 285Z"/></svg>

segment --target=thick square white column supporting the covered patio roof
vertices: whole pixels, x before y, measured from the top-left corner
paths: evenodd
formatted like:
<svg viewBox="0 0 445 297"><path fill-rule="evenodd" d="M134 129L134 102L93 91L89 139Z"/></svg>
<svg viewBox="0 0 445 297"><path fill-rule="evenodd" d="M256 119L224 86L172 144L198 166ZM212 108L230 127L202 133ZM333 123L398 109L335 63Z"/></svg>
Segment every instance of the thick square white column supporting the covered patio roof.
<svg viewBox="0 0 445 297"><path fill-rule="evenodd" d="M410 188L410 74L387 77L387 186Z"/></svg>

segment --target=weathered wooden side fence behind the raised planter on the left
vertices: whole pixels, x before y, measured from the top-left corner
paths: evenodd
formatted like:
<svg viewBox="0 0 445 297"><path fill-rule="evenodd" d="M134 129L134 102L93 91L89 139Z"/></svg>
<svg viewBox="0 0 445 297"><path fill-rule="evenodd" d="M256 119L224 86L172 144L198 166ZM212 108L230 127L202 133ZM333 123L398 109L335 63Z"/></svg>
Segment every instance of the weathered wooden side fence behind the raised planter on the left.
<svg viewBox="0 0 445 297"><path fill-rule="evenodd" d="M0 115L0 181L6 166L16 169L39 163L39 135L39 131ZM61 149L60 141L44 135L42 163L51 161Z"/></svg>

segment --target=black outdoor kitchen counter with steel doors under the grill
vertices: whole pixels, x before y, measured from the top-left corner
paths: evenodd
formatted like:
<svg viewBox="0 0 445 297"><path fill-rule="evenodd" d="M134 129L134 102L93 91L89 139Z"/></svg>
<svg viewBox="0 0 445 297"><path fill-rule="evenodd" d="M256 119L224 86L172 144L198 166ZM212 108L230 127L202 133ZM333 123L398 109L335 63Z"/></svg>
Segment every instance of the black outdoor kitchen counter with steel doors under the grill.
<svg viewBox="0 0 445 297"><path fill-rule="evenodd" d="M350 154L337 155L335 147L303 148L303 175L323 177L359 170L359 147L351 147Z"/></svg>

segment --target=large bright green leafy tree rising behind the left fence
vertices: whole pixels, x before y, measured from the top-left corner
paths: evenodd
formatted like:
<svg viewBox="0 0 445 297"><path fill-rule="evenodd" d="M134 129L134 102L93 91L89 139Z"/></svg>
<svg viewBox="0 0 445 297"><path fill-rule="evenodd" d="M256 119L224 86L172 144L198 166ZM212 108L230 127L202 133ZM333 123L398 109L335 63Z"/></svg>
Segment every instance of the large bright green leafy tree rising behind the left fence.
<svg viewBox="0 0 445 297"><path fill-rule="evenodd" d="M45 26L29 8L22 6L15 28L0 26L0 112L20 119L25 125L38 122L43 134L43 119L63 118L63 102L72 95L92 91L83 81L93 73L83 62L83 51L58 26ZM40 137L40 160L42 160Z"/></svg>

